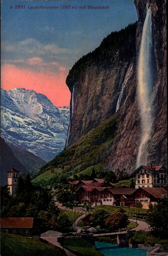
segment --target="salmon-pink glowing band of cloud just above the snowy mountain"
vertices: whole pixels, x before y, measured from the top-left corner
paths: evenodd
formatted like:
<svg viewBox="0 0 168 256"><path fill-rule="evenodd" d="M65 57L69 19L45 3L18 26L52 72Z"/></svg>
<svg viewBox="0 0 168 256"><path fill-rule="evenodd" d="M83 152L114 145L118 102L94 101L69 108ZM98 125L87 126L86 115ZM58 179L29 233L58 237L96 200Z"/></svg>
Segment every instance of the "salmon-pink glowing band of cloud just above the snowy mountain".
<svg viewBox="0 0 168 256"><path fill-rule="evenodd" d="M10 90L23 87L26 90L35 90L46 95L55 106L69 106L70 90L65 84L66 77L64 70L58 74L40 73L6 64L1 67L1 88Z"/></svg>

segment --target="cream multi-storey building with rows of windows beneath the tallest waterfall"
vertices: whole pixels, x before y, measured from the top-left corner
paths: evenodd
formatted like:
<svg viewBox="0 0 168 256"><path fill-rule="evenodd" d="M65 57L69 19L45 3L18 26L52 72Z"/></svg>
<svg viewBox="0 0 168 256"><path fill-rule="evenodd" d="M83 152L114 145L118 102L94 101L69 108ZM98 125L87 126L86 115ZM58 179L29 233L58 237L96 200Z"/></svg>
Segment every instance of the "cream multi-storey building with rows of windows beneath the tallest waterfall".
<svg viewBox="0 0 168 256"><path fill-rule="evenodd" d="M159 188L168 184L168 173L164 165L161 166L139 166L133 172L136 179L135 188Z"/></svg>

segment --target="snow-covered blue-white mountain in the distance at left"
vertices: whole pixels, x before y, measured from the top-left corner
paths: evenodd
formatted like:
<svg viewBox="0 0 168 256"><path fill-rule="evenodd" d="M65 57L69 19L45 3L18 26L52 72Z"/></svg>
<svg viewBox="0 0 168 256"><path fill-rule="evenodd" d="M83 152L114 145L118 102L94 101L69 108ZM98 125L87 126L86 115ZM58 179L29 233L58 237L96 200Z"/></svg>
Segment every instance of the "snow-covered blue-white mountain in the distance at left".
<svg viewBox="0 0 168 256"><path fill-rule="evenodd" d="M43 94L1 89L1 137L7 144L49 161L64 149L69 120L69 107L55 107Z"/></svg>

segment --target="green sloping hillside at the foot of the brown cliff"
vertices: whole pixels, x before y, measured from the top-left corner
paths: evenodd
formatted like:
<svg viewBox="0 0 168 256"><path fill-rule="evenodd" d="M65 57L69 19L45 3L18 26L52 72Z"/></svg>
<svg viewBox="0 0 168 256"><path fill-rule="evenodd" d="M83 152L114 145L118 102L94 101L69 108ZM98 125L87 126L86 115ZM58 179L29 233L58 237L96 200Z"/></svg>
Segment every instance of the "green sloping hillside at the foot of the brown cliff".
<svg viewBox="0 0 168 256"><path fill-rule="evenodd" d="M105 160L113 145L116 125L116 116L102 122L43 166L38 173L41 175L40 178L45 179L46 176L54 178L60 170L65 178L73 178L74 175L90 175L93 169L96 174L103 171ZM47 175L42 175L44 172L47 172ZM38 177L35 178L35 180L38 179Z"/></svg>

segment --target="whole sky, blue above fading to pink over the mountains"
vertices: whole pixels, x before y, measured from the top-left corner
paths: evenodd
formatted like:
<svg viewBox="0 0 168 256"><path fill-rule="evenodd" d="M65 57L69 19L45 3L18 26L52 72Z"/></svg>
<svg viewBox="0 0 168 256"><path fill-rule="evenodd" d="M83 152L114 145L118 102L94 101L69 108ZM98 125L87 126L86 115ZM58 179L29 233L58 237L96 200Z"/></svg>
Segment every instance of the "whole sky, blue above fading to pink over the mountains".
<svg viewBox="0 0 168 256"><path fill-rule="evenodd" d="M1 88L35 90L69 106L65 81L75 62L136 20L133 0L1 0Z"/></svg>

